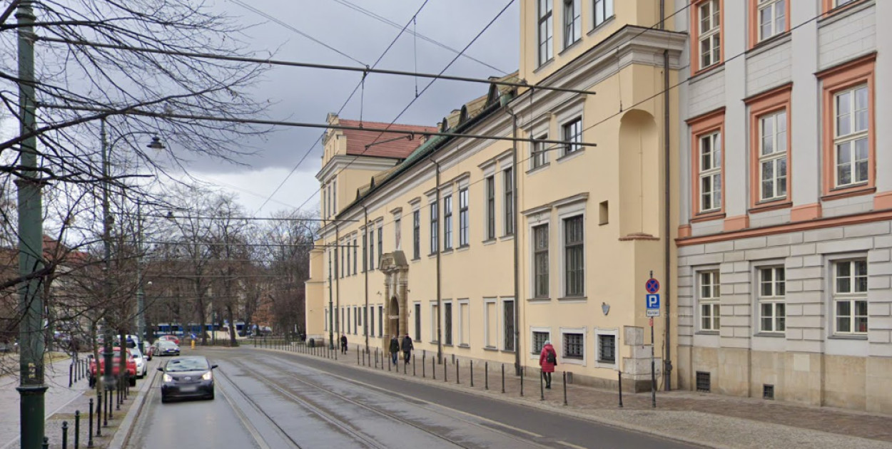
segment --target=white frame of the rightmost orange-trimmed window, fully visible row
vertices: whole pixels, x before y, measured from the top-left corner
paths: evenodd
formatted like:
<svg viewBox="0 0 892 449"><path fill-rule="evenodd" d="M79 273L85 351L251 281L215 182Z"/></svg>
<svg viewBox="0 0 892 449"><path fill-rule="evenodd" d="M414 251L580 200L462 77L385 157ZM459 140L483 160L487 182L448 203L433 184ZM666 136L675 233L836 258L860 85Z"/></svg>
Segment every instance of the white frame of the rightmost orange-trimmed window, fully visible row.
<svg viewBox="0 0 892 449"><path fill-rule="evenodd" d="M857 94L859 91L863 91L864 95L867 97L867 102L863 105L862 110L856 110L857 107ZM850 95L849 101L847 102L847 107L849 108L849 112L846 118L847 126L849 129L849 133L842 135L839 132L839 123L842 119L839 113L839 104L841 101L841 97L843 95ZM835 92L833 94L833 185L835 187L849 187L852 185L859 184L867 184L870 181L870 158L871 158L871 150L870 150L870 133L871 133L871 91L869 86L865 84L860 84L858 86L852 86L847 89L843 89L841 91ZM857 115L859 112L863 113L863 129L856 129L858 120ZM866 155L863 158L858 157L858 151L856 149L857 143L863 143L863 149L866 151ZM839 156L841 147L847 146L847 150L845 152L848 153L848 162L839 162ZM858 169L857 166L863 164L865 166L864 170L864 178L858 179ZM848 170L850 172L850 180L846 184L840 184L839 182L839 170L843 165L848 166Z"/></svg>

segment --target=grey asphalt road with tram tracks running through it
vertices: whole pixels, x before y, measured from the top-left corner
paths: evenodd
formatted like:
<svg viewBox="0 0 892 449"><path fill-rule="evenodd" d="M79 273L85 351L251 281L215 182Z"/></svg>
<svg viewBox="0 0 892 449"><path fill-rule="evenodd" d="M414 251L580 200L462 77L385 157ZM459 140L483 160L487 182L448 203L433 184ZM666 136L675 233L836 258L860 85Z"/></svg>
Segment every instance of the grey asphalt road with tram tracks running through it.
<svg viewBox="0 0 892 449"><path fill-rule="evenodd" d="M159 376L128 447L693 447L325 359L201 353L217 398L161 404Z"/></svg>

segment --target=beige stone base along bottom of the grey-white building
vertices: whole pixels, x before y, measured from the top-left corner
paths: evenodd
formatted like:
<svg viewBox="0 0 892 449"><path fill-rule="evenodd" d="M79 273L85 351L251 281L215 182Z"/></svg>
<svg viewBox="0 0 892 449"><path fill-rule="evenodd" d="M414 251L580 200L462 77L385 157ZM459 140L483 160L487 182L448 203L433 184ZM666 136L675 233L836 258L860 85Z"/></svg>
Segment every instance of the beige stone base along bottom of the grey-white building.
<svg viewBox="0 0 892 449"><path fill-rule="evenodd" d="M707 376L708 375L708 376ZM679 388L892 413L892 357L679 347Z"/></svg>

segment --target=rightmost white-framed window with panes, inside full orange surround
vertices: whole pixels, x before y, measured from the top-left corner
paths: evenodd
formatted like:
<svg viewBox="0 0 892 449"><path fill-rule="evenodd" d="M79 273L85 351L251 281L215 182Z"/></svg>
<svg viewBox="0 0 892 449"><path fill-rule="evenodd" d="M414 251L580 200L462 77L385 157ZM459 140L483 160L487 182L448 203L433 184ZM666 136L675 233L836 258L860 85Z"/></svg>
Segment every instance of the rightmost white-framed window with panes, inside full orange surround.
<svg viewBox="0 0 892 449"><path fill-rule="evenodd" d="M834 94L836 187L864 184L868 181L868 98L867 85L855 86Z"/></svg>

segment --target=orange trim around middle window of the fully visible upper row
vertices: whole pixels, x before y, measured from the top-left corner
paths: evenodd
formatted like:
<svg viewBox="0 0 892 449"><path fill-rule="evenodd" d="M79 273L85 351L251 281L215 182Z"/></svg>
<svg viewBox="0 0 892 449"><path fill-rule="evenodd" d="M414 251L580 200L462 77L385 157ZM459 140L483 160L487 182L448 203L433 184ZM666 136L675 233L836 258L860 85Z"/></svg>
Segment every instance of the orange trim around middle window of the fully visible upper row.
<svg viewBox="0 0 892 449"><path fill-rule="evenodd" d="M787 83L744 100L749 107L749 208L752 212L772 210L774 208L768 208L768 206L778 203L786 202L791 205L789 195L793 186L793 132L790 101L792 91L793 83ZM759 143L762 140L762 136L759 135L759 119L781 110L787 111L787 195L773 200L762 200L762 195L759 194L759 186L762 184L762 171L759 169Z"/></svg>

